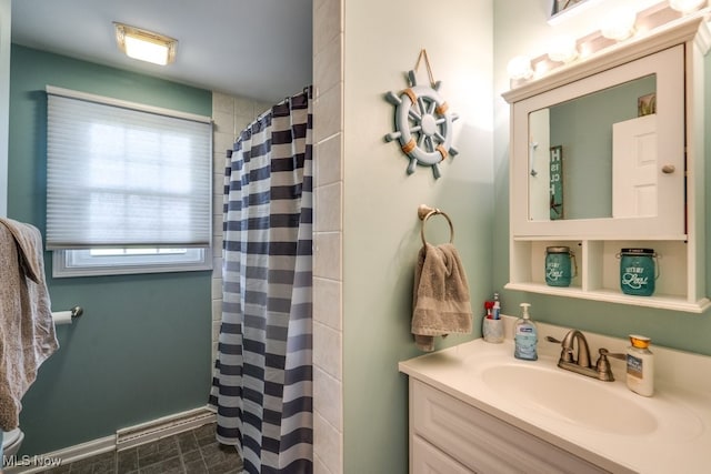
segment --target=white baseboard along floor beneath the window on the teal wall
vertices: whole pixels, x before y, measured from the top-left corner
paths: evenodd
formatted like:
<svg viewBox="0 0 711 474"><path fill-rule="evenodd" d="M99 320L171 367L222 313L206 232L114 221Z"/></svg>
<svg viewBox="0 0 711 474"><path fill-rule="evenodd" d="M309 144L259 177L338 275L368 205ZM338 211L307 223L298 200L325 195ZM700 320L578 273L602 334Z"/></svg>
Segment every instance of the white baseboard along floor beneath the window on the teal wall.
<svg viewBox="0 0 711 474"><path fill-rule="evenodd" d="M61 465L73 463L98 454L110 451L122 451L141 444L172 436L173 434L193 430L217 420L217 415L210 407L194 409L187 412L163 416L147 423L121 428L116 435L92 440L87 443L64 447L51 453L37 456L18 456L14 466L6 467L0 473L4 474L30 474L46 471L57 466L59 460Z"/></svg>

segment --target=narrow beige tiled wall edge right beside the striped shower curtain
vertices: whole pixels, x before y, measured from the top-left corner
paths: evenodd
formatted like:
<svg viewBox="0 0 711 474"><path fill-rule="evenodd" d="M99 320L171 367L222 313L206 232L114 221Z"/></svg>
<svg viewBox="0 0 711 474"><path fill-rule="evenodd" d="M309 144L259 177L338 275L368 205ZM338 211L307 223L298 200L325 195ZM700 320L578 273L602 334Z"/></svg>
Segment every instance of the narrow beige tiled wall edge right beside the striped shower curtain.
<svg viewBox="0 0 711 474"><path fill-rule="evenodd" d="M343 7L313 2L313 472L343 472Z"/></svg>

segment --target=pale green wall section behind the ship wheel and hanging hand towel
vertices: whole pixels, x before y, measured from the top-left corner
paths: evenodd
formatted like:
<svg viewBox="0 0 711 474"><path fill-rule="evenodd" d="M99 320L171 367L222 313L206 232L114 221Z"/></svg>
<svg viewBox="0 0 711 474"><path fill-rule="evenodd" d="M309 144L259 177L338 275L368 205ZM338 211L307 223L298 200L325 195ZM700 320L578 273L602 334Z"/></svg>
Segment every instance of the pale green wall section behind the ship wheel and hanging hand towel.
<svg viewBox="0 0 711 474"><path fill-rule="evenodd" d="M474 312L472 334L437 337L435 349L481 335L494 264L491 3L438 2L434 17L442 28L398 28L405 11L433 19L428 17L434 11L430 0L347 0L343 6L342 426L348 474L408 472L408 377L398 373L398 362L422 354L410 332L422 246L420 204L440 208L452 220ZM400 147L383 140L394 130L394 108L383 95L407 87L405 73L424 47L434 79L442 81L439 93L459 114L452 132L459 154L440 163L439 179L427 167L408 174ZM423 63L418 81L428 84ZM314 120L318 129L319 117ZM425 234L433 244L447 242L447 221L432 216Z"/></svg>

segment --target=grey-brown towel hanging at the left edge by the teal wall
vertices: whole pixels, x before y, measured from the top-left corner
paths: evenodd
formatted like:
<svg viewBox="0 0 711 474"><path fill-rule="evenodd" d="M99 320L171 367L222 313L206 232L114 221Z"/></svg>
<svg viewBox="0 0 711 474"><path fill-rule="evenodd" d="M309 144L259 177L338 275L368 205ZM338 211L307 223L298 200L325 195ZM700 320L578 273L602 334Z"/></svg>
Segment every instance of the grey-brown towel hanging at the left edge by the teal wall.
<svg viewBox="0 0 711 474"><path fill-rule="evenodd" d="M18 426L20 400L58 347L44 282L42 236L0 219L0 428Z"/></svg>

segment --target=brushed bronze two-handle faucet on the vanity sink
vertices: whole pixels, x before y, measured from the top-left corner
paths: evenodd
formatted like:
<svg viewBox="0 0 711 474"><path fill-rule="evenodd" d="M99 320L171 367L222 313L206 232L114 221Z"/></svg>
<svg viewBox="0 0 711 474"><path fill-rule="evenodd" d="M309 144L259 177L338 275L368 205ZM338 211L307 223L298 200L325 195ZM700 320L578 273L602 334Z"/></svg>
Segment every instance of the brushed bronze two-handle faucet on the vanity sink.
<svg viewBox="0 0 711 474"><path fill-rule="evenodd" d="M560 343L562 350L560 352L560 359L558 360L558 366L567 371L575 372L578 374L587 375L590 377L599 379L603 382L614 381L612 375L612 369L610 367L610 357L624 359L624 354L612 354L607 349L601 347L599 350L600 356L594 366L590 364L590 347L585 336L578 330L571 330L565 334L562 341L559 341L550 335L545 337L547 341ZM573 357L573 346L578 341L578 354Z"/></svg>

